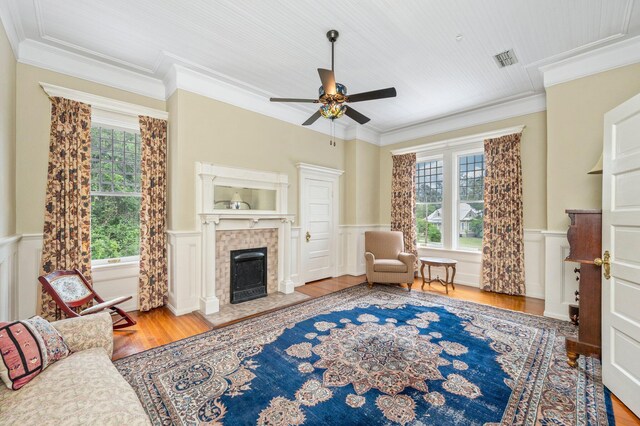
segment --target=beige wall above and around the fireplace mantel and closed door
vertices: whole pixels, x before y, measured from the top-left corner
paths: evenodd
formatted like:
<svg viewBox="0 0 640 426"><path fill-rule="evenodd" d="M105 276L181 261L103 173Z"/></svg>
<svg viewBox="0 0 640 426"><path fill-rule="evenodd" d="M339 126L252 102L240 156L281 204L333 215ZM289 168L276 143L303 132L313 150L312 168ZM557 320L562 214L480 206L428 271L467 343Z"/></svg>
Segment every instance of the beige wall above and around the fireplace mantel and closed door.
<svg viewBox="0 0 640 426"><path fill-rule="evenodd" d="M296 163L344 170L345 146L329 136L184 90L167 102L169 129L169 229L196 228L196 161L289 175L289 213L298 214ZM345 218L341 178L340 223Z"/></svg>

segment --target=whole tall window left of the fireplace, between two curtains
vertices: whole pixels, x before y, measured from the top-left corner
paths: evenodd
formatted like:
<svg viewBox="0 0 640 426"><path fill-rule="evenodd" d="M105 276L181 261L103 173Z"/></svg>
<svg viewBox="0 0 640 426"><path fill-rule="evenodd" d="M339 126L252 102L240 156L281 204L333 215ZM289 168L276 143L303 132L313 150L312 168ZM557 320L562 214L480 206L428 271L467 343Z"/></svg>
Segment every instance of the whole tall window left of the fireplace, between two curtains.
<svg viewBox="0 0 640 426"><path fill-rule="evenodd" d="M91 128L91 257L135 260L140 254L140 134Z"/></svg>

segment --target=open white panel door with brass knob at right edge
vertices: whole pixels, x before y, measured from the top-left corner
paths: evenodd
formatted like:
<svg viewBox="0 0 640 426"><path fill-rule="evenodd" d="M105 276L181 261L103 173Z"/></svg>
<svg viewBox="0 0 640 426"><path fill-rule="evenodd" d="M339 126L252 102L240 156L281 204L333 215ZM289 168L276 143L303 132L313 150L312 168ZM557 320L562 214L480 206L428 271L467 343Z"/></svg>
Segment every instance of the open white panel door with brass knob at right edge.
<svg viewBox="0 0 640 426"><path fill-rule="evenodd" d="M640 95L605 115L602 375L640 416Z"/></svg>

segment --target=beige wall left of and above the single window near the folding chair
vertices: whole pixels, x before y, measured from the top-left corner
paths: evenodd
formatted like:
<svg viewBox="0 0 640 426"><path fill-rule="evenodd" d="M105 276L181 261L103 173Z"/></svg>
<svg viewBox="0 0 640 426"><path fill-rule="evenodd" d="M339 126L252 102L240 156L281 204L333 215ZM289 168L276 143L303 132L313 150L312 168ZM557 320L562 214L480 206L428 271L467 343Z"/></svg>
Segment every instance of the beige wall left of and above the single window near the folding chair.
<svg viewBox="0 0 640 426"><path fill-rule="evenodd" d="M16 228L21 234L41 233L44 223L51 103L39 82L165 109L164 101L19 63L16 77Z"/></svg>

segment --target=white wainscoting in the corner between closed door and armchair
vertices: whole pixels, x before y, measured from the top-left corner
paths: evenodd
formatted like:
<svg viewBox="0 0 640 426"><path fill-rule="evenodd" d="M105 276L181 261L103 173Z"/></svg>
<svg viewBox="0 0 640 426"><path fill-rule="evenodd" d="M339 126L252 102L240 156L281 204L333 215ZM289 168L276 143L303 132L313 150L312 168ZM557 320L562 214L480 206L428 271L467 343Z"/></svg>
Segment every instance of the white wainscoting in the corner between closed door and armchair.
<svg viewBox="0 0 640 426"><path fill-rule="evenodd" d="M388 231L389 225L340 225L338 229L338 275L363 275L367 272L364 260L364 233Z"/></svg>

